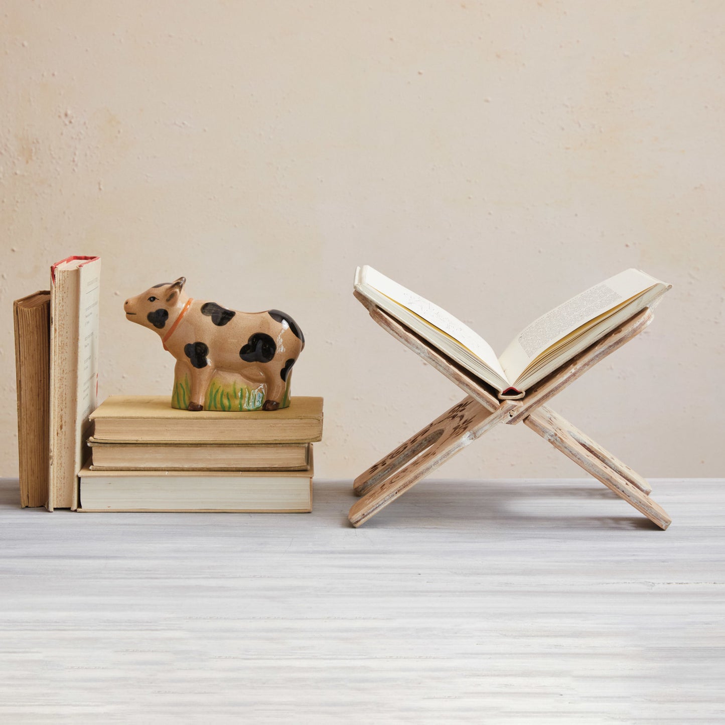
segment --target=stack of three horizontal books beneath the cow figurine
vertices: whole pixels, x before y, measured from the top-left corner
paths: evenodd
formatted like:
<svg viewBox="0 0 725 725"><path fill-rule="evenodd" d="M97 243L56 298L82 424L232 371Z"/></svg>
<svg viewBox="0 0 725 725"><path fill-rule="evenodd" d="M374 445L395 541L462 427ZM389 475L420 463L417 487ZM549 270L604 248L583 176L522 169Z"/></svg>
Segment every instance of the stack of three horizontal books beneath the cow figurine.
<svg viewBox="0 0 725 725"><path fill-rule="evenodd" d="M81 511L312 510L323 399L275 411L191 413L164 396L111 396L91 413Z"/></svg>

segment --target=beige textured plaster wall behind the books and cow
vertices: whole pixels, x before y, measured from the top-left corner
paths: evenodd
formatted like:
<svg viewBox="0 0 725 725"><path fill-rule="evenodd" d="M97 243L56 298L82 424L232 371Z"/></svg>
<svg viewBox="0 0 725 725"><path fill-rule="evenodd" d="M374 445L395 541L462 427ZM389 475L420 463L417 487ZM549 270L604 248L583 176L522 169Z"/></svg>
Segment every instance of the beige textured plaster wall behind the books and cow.
<svg viewBox="0 0 725 725"><path fill-rule="evenodd" d="M600 1L0 6L0 473L17 471L11 302L103 257L102 397L170 392L121 303L278 307L352 478L458 397L352 297L368 263L501 351L637 266L653 326L555 407L648 476L721 476L725 5ZM629 407L629 410L627 410ZM502 427L443 476L576 476Z"/></svg>

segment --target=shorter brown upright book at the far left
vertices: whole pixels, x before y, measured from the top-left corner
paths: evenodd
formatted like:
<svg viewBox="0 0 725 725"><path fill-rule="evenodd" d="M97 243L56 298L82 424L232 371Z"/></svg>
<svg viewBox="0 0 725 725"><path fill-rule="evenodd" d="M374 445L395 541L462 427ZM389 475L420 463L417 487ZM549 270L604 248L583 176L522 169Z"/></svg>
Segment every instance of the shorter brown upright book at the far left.
<svg viewBox="0 0 725 725"><path fill-rule="evenodd" d="M50 292L12 304L15 329L20 505L48 502Z"/></svg>

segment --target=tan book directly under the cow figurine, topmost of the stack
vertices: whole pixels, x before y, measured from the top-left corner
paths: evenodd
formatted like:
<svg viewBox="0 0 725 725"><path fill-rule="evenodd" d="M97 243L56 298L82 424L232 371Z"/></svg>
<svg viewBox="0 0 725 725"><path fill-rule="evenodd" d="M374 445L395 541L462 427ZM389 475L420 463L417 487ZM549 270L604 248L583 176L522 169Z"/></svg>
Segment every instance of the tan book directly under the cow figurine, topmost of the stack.
<svg viewBox="0 0 725 725"><path fill-rule="evenodd" d="M322 439L323 399L292 397L281 410L180 410L170 396L112 395L91 413L107 443L312 443Z"/></svg>

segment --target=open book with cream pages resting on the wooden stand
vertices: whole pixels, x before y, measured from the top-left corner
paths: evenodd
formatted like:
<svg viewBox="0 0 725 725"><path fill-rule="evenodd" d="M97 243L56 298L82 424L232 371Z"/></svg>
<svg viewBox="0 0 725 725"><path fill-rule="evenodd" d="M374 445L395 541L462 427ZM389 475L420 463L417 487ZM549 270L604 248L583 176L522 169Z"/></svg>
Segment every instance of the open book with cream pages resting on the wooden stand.
<svg viewBox="0 0 725 725"><path fill-rule="evenodd" d="M493 386L500 398L523 394L671 288L645 272L624 270L534 320L500 357L471 328L372 267L358 267L355 291Z"/></svg>

